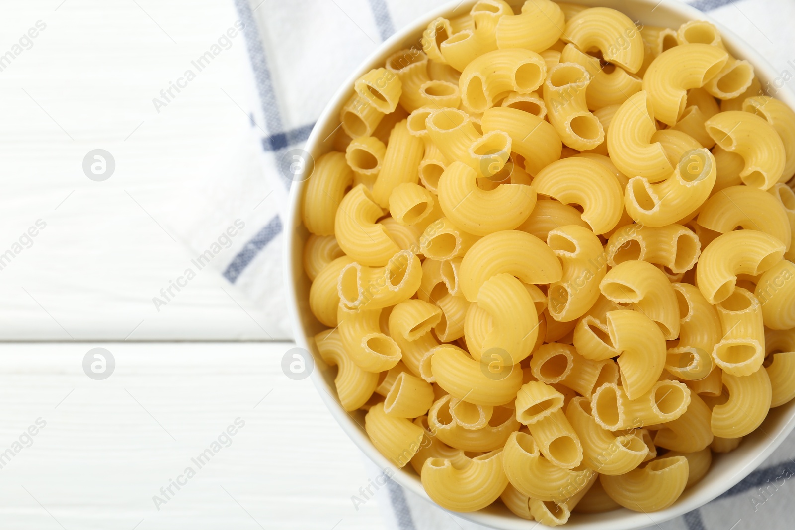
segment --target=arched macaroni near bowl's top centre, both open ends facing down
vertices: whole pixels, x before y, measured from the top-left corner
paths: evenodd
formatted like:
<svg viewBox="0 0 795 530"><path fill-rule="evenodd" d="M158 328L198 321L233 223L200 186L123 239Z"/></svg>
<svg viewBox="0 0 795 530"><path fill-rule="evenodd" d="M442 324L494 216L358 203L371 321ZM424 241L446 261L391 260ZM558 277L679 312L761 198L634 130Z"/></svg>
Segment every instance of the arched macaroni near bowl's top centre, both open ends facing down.
<svg viewBox="0 0 795 530"><path fill-rule="evenodd" d="M522 48L486 52L461 72L461 103L480 114L494 106L498 95L505 92L536 91L546 74L546 63L536 52Z"/></svg>

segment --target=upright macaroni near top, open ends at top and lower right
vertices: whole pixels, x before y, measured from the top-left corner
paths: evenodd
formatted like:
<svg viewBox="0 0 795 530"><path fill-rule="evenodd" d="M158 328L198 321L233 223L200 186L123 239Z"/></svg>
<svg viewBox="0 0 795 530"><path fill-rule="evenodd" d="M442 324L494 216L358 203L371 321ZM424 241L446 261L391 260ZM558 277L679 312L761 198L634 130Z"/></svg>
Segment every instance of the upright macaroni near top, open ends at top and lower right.
<svg viewBox="0 0 795 530"><path fill-rule="evenodd" d="M604 128L586 103L591 75L581 64L559 63L544 82L547 118L572 149L594 149L604 141Z"/></svg>

